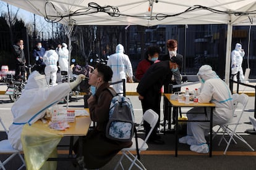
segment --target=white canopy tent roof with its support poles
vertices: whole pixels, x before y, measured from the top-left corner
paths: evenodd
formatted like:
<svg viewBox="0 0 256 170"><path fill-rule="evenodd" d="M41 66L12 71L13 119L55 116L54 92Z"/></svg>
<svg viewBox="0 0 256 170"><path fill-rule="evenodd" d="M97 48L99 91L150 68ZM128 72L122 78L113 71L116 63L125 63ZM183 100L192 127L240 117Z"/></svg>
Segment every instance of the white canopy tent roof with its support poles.
<svg viewBox="0 0 256 170"><path fill-rule="evenodd" d="M256 17L255 0L2 1L69 26L69 39L72 25L227 24L226 83L229 81L233 25L255 25L252 21Z"/></svg>

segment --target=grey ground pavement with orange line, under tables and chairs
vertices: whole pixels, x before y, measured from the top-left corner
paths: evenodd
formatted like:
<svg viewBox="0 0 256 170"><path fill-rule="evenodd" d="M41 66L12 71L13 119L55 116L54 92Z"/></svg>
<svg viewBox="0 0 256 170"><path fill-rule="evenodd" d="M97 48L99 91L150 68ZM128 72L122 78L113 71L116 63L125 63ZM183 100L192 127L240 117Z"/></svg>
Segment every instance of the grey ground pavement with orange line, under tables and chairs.
<svg viewBox="0 0 256 170"><path fill-rule="evenodd" d="M189 89L194 89L198 84L189 86ZM3 86L3 85L2 85ZM0 87L4 89L4 87ZM135 93L135 87L137 84L127 84L127 96L132 101L134 107L135 121L140 122L142 118L142 108L140 101ZM186 87L186 86L184 86ZM182 87L183 88L183 87ZM242 92L250 92L253 94L254 89L247 90L247 87L241 88ZM1 91L1 90L0 90ZM5 91L5 90L4 90ZM130 94L129 94L130 92ZM243 122L248 122L248 116L254 116L254 96L249 97L249 103L247 105L247 111L242 116ZM161 100L161 119L163 119L163 97ZM0 116L4 120L7 127L12 123L11 106L13 103L10 102L7 95L0 95ZM60 104L59 107L66 107L66 104ZM72 102L69 102L69 107L77 108L83 107L83 96L78 96L78 101L73 98ZM187 108L188 110L189 108ZM241 110L241 108L239 108ZM186 110L184 110L186 111ZM183 110L182 110L183 112ZM239 113L237 113L239 114ZM163 127L160 127L163 129ZM244 133L246 129L252 128L251 124L243 123L237 129L247 142L256 149L256 136ZM214 128L216 129L216 127ZM0 129L2 131L2 129ZM143 132L140 132L140 137L144 137ZM182 136L182 135L180 135ZM3 139L4 133L0 132L0 138ZM161 134L161 138L164 140L165 145L154 145L149 144L149 149L141 154L142 162L145 164L147 169L255 169L256 166L256 152L252 152L249 148L237 141L237 144L232 143L229 146L227 155L223 155L224 142L218 146L220 135L213 139L213 156L209 158L207 154L197 154L189 151L189 146L185 144L179 144L179 152L177 158L174 156L174 134L166 133ZM61 140L62 144L68 142L68 138ZM67 148L61 148L59 150L59 156L67 156ZM0 155L0 158L4 158L6 155ZM116 155L113 160L106 164L103 170L113 169L120 155ZM15 158L11 163L7 164L7 169L17 169L19 166L18 158ZM124 167L127 169L128 162L124 161ZM70 162L59 162L58 169L79 169L75 168ZM133 168L137 169L137 168Z"/></svg>

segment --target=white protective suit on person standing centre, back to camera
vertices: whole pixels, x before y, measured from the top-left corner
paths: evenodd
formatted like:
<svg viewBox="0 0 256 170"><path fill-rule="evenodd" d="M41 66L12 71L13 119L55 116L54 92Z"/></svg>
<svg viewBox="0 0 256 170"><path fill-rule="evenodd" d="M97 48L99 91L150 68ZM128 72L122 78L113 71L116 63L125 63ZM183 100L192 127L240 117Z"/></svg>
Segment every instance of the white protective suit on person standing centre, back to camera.
<svg viewBox="0 0 256 170"><path fill-rule="evenodd" d="M124 46L118 44L116 46L116 53L109 56L107 65L111 67L113 71L112 81L120 81L126 79L126 75L132 78L132 64L128 55L124 54ZM122 83L114 84L114 90L117 93L122 93Z"/></svg>

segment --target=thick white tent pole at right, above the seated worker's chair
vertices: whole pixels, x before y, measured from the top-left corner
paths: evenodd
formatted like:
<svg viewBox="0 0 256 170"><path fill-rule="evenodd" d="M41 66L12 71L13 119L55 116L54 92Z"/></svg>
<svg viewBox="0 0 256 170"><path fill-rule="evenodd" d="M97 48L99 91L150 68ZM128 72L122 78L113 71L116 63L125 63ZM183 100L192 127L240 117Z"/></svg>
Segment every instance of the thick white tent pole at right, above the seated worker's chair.
<svg viewBox="0 0 256 170"><path fill-rule="evenodd" d="M230 60L231 60L231 44L232 44L233 25L228 23L227 44L226 44L226 66L225 66L225 83L229 86Z"/></svg>

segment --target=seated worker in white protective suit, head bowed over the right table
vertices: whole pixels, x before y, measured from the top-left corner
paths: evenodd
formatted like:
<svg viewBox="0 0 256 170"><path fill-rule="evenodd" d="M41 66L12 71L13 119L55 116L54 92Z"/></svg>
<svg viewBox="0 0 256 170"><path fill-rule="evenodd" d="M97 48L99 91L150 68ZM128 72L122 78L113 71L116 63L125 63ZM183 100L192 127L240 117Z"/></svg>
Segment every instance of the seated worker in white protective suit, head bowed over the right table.
<svg viewBox="0 0 256 170"><path fill-rule="evenodd" d="M228 123L233 118L233 99L231 91L226 83L221 80L210 65L200 67L198 73L202 86L198 95L199 103L213 102L216 104L213 110L213 126ZM188 111L189 120L205 120L204 114L192 114L204 112L203 107L195 107ZM207 118L210 118L210 108L207 108ZM205 133L209 131L208 122L188 122L187 136L179 139L182 144L190 145L190 150L198 153L208 153L209 148L205 140Z"/></svg>

